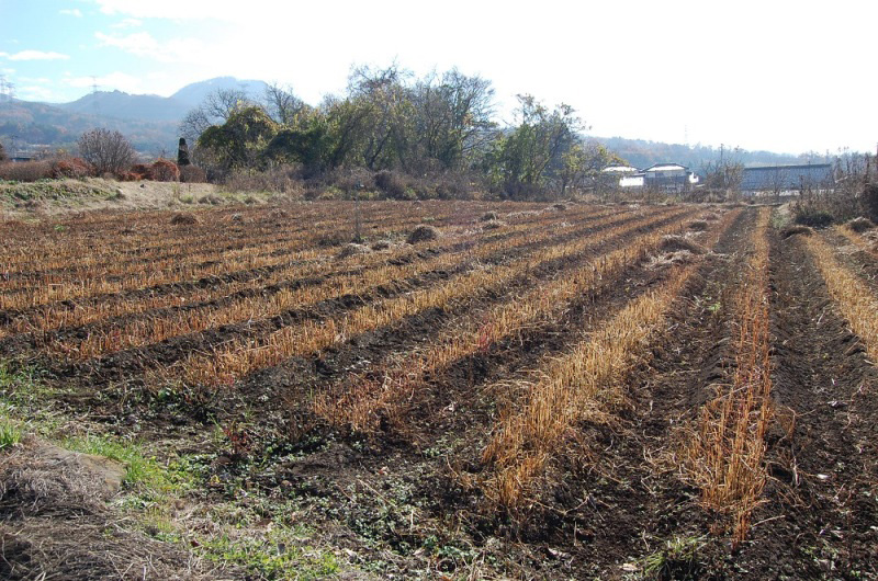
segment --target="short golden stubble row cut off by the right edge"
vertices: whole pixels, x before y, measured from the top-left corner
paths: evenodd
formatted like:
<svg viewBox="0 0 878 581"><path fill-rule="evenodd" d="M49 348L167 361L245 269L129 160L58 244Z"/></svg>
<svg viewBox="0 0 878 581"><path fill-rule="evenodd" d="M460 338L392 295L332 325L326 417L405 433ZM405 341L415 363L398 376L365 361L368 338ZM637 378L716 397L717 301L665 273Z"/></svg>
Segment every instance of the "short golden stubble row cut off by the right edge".
<svg viewBox="0 0 878 581"><path fill-rule="evenodd" d="M821 237L808 237L804 243L842 316L865 344L869 357L878 361L878 299L866 283L838 262Z"/></svg>

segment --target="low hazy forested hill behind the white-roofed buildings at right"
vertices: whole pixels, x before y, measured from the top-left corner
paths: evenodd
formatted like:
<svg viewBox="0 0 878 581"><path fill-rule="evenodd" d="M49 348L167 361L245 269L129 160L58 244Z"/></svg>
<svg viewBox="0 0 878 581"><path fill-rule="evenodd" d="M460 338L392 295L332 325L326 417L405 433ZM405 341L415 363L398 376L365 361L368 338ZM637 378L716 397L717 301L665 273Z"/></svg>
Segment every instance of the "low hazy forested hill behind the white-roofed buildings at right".
<svg viewBox="0 0 878 581"><path fill-rule="evenodd" d="M745 151L725 147L687 146L683 144L664 144L661 141L646 141L643 139L627 139L624 137L594 137L596 141L606 146L610 151L640 169L649 168L655 163L682 163L698 171L711 161L725 159L740 161L746 167L778 166L787 163L824 162L825 153L773 153L770 151Z"/></svg>

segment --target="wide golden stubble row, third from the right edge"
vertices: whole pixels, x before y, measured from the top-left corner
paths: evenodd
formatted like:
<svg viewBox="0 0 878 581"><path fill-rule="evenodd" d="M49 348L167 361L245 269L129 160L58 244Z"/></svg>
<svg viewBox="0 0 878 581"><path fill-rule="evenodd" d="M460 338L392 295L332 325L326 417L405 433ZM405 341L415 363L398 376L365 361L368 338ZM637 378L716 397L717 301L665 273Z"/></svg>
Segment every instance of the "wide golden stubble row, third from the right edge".
<svg viewBox="0 0 878 581"><path fill-rule="evenodd" d="M716 243L738 217L732 213L710 237ZM486 495L508 509L527 499L533 479L585 420L603 421L624 399L624 377L632 360L658 331L667 309L696 266L674 267L668 280L648 292L566 354L549 358L530 383L522 383L518 411L502 410L498 426L483 453L492 465Z"/></svg>

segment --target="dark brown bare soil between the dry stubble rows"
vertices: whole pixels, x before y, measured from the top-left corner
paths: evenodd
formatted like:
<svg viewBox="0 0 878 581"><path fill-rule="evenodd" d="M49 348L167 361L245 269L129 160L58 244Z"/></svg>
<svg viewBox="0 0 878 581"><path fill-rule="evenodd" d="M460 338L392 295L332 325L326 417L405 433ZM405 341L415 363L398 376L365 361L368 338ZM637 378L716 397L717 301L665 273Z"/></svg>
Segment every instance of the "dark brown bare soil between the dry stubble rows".
<svg viewBox="0 0 878 581"><path fill-rule="evenodd" d="M441 205L414 207L442 214ZM593 251L547 261L502 289L260 369L243 378L234 391L192 388L159 396L144 372L230 339L264 337L303 320L344 316L370 301L440 284L479 265L462 259L447 271L391 281L372 293L331 297L280 317L210 329L81 365L49 360L25 335L0 342L0 351L7 356L36 357L33 361L55 373L58 384L71 386L71 392L57 397L54 406L88 417L108 433L170 438L176 452L206 458L198 492L202 502L294 506L295 517L313 528L317 542L344 556L346 567L357 571L353 576L370 570L376 578L403 579L876 578L878 403L874 396L878 372L835 310L802 237L772 233L768 299L775 420L766 438L769 480L750 534L736 550L731 548L728 516L706 510L699 490L679 468L687 426L714 396L714 386L728 383L734 372L733 296L753 252L756 213L752 209L743 209L713 248L706 248L703 233L668 239L656 257L632 264L587 295L567 297L555 319L520 329L434 375L419 376L417 389L394 415L382 415L374 431L334 426L314 414L311 402L316 395L340 398L359 381L380 385L399 356L429 345L455 322L565 276L572 267L648 230L601 239L604 227L592 224L587 210L564 207L540 217L529 214L530 209L516 216L509 207L499 212L474 204L448 221L442 218L434 224L455 228L465 220L474 236L487 236L479 227L480 216L487 213L509 224L547 216L577 224L575 230L545 242L509 247L483 259L486 263L500 264L577 237L598 237ZM442 215L450 216L447 208ZM703 215L703 207L693 207L676 220L687 226ZM245 219L259 224L257 216ZM418 221L413 218L412 225ZM669 217L657 224L668 221ZM727 224L702 221L708 233ZM492 236L506 235L499 230ZM814 236L836 247L845 244L836 235ZM320 242L315 239L314 243ZM424 260L439 252L463 255L474 248L470 242L444 244L440 241L429 253L413 249L405 260ZM338 251L339 244L329 246L330 254ZM878 273L878 262L869 253L843 257L864 280ZM683 267L695 269L695 274L661 332L638 354L624 378L624 401L611 418L582 422L571 430L563 453L550 459L527 505L506 511L487 501L474 486L491 469L482 463L482 451L497 426L503 401L515 397L516 385ZM261 276L243 274L251 275ZM61 329L57 337L170 311ZM214 425L223 428L228 442L216 444L205 437ZM14 482L7 474L0 476ZM57 497L68 499L68 504L74 498L76 508L65 505L67 512L59 512L41 504L45 499L32 503L9 494L4 497L9 502L0 502L7 567L19 568L12 573L0 568L0 573L38 574L63 567L58 563L66 559L76 567L68 577L85 578L83 571L101 577L111 574L106 571L116 566L119 556L140 563L151 555L156 567L166 567L157 570L169 578L244 577L234 569L210 572L203 563L183 571L179 563L188 558L185 547L139 533L101 537L100 523L112 522L114 515L100 498ZM77 519L68 516L70 511L79 511ZM54 540L48 531L55 532ZM86 551L71 548L75 540L97 547L106 558L88 560Z"/></svg>

